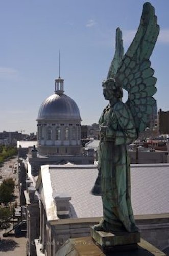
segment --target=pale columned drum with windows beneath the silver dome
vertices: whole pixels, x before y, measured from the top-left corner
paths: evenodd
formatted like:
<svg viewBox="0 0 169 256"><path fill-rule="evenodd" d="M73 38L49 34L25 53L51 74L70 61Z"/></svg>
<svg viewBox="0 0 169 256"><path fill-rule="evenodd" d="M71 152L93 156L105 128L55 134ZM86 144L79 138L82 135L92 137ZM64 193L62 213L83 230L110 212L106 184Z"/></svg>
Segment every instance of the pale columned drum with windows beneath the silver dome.
<svg viewBox="0 0 169 256"><path fill-rule="evenodd" d="M42 155L81 154L80 123L38 122L38 149ZM44 152L46 151L46 154Z"/></svg>

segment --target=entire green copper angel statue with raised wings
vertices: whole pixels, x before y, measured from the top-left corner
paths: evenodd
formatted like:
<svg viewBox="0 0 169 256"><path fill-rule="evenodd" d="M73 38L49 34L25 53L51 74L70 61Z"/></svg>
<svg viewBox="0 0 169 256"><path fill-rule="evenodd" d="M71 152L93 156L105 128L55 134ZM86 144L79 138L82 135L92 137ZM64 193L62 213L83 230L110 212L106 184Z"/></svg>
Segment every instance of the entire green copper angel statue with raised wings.
<svg viewBox="0 0 169 256"><path fill-rule="evenodd" d="M102 196L103 219L96 231L137 232L130 191L130 163L126 145L147 127L153 111L156 78L149 60L159 34L157 17L150 3L143 6L137 33L124 55L122 32L116 30L115 55L103 95L109 104L100 117L98 178L91 191ZM122 102L123 89L128 100Z"/></svg>

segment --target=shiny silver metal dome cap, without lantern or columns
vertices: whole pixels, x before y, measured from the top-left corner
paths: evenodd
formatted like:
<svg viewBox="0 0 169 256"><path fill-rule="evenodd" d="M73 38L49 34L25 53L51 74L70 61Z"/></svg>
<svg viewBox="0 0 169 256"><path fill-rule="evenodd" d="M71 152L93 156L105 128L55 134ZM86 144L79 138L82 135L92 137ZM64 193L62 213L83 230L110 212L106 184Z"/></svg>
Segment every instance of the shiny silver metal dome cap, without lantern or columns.
<svg viewBox="0 0 169 256"><path fill-rule="evenodd" d="M40 106L37 120L81 121L80 111L73 99L65 94L53 94Z"/></svg>

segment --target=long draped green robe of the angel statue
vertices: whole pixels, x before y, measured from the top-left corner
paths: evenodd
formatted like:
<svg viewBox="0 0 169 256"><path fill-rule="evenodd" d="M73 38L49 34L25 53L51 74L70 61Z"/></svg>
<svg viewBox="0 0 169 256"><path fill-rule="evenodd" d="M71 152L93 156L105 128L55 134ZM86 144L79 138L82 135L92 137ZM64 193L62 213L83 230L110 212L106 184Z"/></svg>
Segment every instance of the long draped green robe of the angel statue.
<svg viewBox="0 0 169 256"><path fill-rule="evenodd" d="M104 109L99 123L108 126L104 136L101 135L98 161L105 229L135 232L138 229L131 206L126 148L137 137L134 120L128 106L119 101Z"/></svg>

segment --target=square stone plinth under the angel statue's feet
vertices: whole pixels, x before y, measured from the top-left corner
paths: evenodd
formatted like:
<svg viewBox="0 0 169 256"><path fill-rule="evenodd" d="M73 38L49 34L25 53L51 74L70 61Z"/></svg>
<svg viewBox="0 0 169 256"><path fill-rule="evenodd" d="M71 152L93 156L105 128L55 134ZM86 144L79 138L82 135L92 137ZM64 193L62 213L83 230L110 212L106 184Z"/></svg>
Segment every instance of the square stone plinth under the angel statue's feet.
<svg viewBox="0 0 169 256"><path fill-rule="evenodd" d="M92 239L96 245L99 245L103 252L122 251L137 249L137 243L140 242L140 233L116 232L108 233L104 231L95 231L90 228Z"/></svg>

